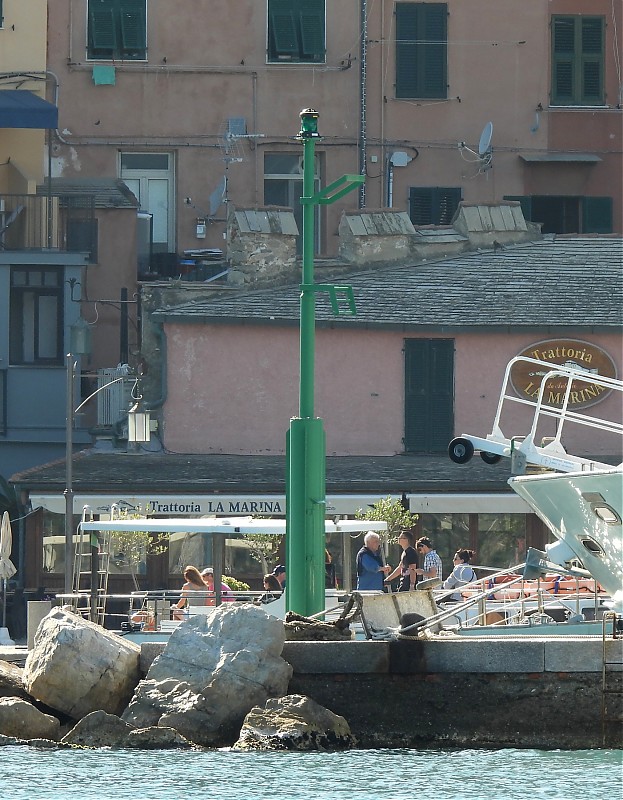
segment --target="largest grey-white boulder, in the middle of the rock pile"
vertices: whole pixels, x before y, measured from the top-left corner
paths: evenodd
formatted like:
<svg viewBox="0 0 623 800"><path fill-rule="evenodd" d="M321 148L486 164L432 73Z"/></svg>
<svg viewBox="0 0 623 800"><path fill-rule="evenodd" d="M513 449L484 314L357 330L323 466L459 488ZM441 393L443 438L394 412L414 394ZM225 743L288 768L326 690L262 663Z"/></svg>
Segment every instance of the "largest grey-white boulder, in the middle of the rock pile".
<svg viewBox="0 0 623 800"><path fill-rule="evenodd" d="M284 639L283 622L253 605L191 617L171 634L122 719L172 727L200 745L231 744L253 706L286 693Z"/></svg>

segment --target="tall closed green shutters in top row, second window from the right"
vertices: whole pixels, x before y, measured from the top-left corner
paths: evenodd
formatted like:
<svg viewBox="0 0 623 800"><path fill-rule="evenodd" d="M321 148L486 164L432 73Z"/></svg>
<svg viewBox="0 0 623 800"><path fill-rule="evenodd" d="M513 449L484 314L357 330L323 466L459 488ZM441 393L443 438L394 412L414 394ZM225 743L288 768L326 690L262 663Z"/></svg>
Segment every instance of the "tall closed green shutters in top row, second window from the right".
<svg viewBox="0 0 623 800"><path fill-rule="evenodd" d="M396 97L447 97L447 60L447 4L396 3Z"/></svg>

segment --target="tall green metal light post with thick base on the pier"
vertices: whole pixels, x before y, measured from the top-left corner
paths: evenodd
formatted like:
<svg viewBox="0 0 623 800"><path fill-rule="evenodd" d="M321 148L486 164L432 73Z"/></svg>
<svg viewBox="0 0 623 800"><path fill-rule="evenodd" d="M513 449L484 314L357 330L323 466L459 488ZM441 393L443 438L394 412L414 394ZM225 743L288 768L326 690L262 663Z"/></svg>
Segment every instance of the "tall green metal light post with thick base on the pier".
<svg viewBox="0 0 623 800"><path fill-rule="evenodd" d="M326 511L325 434L314 417L315 313L318 291L329 293L333 311L355 313L350 286L314 283L314 206L332 203L364 181L345 175L314 194L314 150L318 112L300 113L303 143L303 268L301 282L299 416L290 420L286 437L286 606L310 616L324 609ZM346 300L346 307L340 304Z"/></svg>

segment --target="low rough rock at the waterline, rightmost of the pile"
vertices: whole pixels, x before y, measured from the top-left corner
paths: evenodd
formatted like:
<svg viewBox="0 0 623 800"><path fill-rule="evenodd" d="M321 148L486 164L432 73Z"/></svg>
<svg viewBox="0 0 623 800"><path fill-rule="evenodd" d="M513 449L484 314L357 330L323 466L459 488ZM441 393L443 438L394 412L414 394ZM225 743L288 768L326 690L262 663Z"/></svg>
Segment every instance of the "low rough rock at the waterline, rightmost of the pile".
<svg viewBox="0 0 623 800"><path fill-rule="evenodd" d="M236 750L334 750L356 744L344 717L300 694L253 708L234 745Z"/></svg>

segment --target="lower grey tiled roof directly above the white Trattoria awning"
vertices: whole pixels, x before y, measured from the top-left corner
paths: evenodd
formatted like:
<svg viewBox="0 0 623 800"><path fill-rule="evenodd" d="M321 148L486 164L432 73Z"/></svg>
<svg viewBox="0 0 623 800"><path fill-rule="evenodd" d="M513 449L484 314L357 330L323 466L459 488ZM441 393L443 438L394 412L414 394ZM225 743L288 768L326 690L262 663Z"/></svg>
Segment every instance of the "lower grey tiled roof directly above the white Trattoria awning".
<svg viewBox="0 0 623 800"><path fill-rule="evenodd" d="M73 458L76 492L285 492L285 456L140 455L86 450ZM468 466L448 456L329 456L327 493L510 492L509 462L494 466L474 459ZM62 492L65 461L13 475L31 491Z"/></svg>

